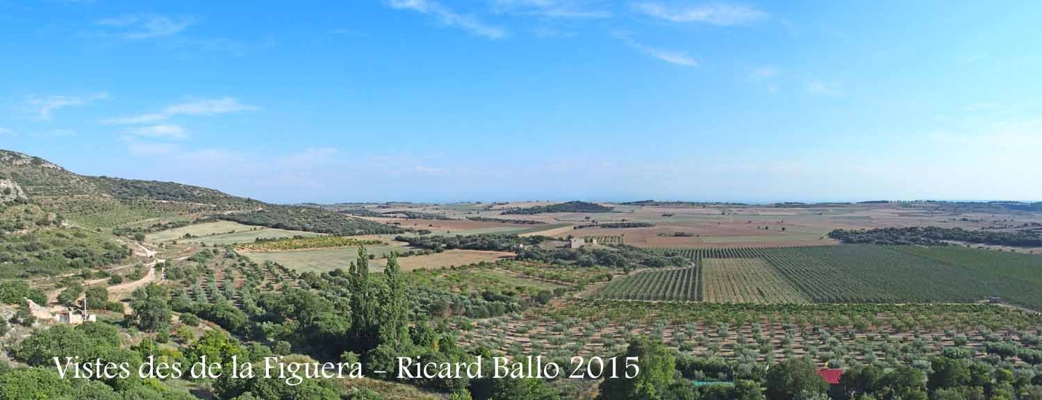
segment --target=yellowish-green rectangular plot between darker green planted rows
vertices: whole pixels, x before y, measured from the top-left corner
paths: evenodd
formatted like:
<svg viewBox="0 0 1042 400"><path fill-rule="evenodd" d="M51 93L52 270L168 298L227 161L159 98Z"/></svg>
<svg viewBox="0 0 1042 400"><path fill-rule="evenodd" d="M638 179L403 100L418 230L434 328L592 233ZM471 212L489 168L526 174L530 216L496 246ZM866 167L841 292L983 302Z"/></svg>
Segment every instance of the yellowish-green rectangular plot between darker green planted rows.
<svg viewBox="0 0 1042 400"><path fill-rule="evenodd" d="M703 258L703 299L714 303L808 303L762 258Z"/></svg>

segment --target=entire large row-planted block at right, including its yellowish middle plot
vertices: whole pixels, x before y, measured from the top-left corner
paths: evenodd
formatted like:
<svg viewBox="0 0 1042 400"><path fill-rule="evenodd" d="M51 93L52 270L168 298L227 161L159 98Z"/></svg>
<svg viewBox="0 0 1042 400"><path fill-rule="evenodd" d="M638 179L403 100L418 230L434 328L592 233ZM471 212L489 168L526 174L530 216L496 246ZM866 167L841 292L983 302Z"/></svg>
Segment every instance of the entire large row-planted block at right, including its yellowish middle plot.
<svg viewBox="0 0 1042 400"><path fill-rule="evenodd" d="M769 303L793 301L791 296L815 303L969 303L998 296L1042 308L1042 256L1034 254L878 245L658 251L691 258L701 268L700 297L674 295L672 283L665 282L674 271L619 278L598 296Z"/></svg>

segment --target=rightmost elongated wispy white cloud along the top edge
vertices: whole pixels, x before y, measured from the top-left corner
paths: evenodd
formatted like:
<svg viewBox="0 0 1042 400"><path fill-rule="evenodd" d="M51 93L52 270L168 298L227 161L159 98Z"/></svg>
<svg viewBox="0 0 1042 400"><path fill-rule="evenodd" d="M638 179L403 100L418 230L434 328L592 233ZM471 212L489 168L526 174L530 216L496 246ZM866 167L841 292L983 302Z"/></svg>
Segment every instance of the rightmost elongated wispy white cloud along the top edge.
<svg viewBox="0 0 1042 400"><path fill-rule="evenodd" d="M746 5L723 3L669 7L662 3L635 3L645 15L670 22L699 22L717 26L745 25L767 18L767 12Z"/></svg>

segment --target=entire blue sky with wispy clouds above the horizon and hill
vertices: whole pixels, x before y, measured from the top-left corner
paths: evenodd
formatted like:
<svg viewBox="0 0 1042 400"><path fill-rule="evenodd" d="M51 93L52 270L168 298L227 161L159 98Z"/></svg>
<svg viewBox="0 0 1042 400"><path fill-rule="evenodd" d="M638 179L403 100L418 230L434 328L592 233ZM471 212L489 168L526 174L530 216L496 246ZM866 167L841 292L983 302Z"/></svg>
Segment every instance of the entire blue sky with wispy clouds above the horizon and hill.
<svg viewBox="0 0 1042 400"><path fill-rule="evenodd" d="M1042 200L1042 3L0 0L0 148L276 202Z"/></svg>

